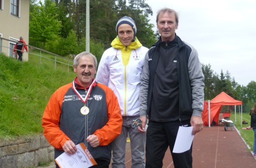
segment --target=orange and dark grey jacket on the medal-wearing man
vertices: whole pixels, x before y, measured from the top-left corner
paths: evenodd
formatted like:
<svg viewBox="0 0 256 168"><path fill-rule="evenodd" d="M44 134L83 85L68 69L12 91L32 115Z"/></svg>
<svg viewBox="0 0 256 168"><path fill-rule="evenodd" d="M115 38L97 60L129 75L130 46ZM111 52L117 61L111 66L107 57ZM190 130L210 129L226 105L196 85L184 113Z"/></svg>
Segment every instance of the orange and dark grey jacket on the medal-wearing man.
<svg viewBox="0 0 256 168"><path fill-rule="evenodd" d="M64 152L64 143L72 140L75 144L84 142L94 159L110 161L109 143L120 134L122 126L116 96L107 86L95 83L86 103L89 113L83 115L80 109L84 103L72 86L73 83L64 85L51 96L42 118L44 136L54 146L55 158ZM87 89L76 82L75 88L85 97ZM91 147L86 143L86 137L91 134L98 137L98 147Z"/></svg>

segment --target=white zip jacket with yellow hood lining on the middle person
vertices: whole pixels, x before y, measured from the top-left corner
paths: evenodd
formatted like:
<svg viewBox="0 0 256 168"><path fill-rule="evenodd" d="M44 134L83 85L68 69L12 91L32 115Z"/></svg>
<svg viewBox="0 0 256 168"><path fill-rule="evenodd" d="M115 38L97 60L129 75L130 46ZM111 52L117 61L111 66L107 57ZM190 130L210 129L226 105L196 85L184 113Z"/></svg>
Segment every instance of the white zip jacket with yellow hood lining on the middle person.
<svg viewBox="0 0 256 168"><path fill-rule="evenodd" d="M122 116L140 116L140 80L149 49L143 47L137 38L129 46L124 46L118 36L111 46L101 57L96 81L113 90Z"/></svg>

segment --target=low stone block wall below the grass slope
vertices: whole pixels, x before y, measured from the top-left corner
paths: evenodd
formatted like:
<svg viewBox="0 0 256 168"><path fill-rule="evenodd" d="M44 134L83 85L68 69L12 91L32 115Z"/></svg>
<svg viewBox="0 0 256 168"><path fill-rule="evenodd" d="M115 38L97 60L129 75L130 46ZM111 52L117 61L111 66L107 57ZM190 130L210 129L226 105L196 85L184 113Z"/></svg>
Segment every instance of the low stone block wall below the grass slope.
<svg viewBox="0 0 256 168"><path fill-rule="evenodd" d="M54 158L54 148L44 136L0 142L0 167L37 167Z"/></svg>

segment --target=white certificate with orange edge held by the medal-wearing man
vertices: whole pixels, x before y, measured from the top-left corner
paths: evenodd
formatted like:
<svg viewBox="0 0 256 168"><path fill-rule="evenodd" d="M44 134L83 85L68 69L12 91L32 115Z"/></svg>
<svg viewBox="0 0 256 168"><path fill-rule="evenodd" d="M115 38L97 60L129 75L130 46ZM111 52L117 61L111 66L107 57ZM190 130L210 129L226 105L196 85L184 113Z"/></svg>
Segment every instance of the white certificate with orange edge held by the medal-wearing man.
<svg viewBox="0 0 256 168"><path fill-rule="evenodd" d="M66 152L55 159L60 168L87 168L97 164L84 143L76 145L77 151L72 155Z"/></svg>

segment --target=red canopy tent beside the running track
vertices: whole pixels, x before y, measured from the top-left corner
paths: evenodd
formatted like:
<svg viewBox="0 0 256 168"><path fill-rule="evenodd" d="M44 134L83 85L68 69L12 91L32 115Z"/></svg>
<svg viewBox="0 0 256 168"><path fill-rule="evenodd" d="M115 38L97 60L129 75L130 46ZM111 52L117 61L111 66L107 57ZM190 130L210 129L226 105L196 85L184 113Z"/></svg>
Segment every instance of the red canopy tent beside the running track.
<svg viewBox="0 0 256 168"><path fill-rule="evenodd" d="M212 121L215 121L216 123L219 122L219 112L222 105L242 105L242 101L233 99L225 92L221 92L216 97L214 97L210 101L210 106L208 105L208 101L204 101L204 110L202 112L204 126L209 126L209 121L210 124L212 123Z"/></svg>

